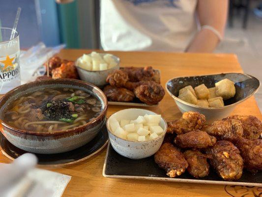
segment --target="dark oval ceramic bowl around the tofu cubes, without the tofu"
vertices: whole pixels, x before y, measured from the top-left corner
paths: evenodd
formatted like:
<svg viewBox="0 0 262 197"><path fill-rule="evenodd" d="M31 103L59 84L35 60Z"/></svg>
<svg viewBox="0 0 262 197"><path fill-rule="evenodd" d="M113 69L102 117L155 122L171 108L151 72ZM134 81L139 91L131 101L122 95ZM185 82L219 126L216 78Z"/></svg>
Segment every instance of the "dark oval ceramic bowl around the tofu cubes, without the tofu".
<svg viewBox="0 0 262 197"><path fill-rule="evenodd" d="M178 99L178 91L185 86L191 85L193 88L204 83L207 88L215 87L215 83L228 78L235 83L235 96L231 99L224 100L224 107L201 107L181 99ZM166 90L174 98L179 110L184 113L186 111L198 111L205 115L207 122L213 122L218 119L225 118L234 109L234 107L254 95L260 87L257 78L242 73L222 73L202 76L176 77L166 83Z"/></svg>

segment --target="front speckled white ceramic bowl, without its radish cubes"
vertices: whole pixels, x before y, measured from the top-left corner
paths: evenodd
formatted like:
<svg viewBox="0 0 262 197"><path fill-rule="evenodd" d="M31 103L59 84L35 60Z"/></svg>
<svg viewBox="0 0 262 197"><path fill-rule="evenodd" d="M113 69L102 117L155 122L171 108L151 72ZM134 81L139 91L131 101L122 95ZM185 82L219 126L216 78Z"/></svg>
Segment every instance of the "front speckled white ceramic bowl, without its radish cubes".
<svg viewBox="0 0 262 197"><path fill-rule="evenodd" d="M167 123L166 121L161 117L160 120L160 127L164 130L164 132L159 135L157 138L148 140L148 141L129 141L123 138L120 138L116 136L113 131L111 131L109 123L112 118L116 118L116 120L121 119L128 119L128 120L135 120L138 116L144 116L144 115L156 115L156 113L146 110L146 109L124 109L121 111L118 111L110 116L110 118L107 120L107 131L109 135L109 140L114 148L114 150L127 158L130 159L143 159L146 157L150 157L151 155L155 154L160 146L162 145L162 142L164 140L165 134L167 132Z"/></svg>

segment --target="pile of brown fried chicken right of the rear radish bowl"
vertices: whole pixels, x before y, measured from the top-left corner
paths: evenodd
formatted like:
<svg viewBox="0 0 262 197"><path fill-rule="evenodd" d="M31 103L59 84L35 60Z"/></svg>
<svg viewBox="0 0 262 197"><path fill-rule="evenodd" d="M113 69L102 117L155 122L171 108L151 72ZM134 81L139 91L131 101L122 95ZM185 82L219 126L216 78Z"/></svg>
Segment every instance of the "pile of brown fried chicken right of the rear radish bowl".
<svg viewBox="0 0 262 197"><path fill-rule="evenodd" d="M160 74L151 66L124 67L107 77L103 92L110 101L130 102L136 98L148 105L157 104L164 98L165 90L160 85Z"/></svg>

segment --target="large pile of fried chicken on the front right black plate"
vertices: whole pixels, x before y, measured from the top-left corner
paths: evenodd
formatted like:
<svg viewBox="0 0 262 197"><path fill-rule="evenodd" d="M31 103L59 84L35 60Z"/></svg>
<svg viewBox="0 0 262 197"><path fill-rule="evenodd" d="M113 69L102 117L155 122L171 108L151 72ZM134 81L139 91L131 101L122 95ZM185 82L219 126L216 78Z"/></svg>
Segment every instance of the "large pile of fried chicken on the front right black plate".
<svg viewBox="0 0 262 197"><path fill-rule="evenodd" d="M198 112L185 112L169 122L164 142L154 159L167 175L187 171L195 178L207 176L209 164L224 180L241 177L243 168L262 170L262 122L255 116L233 115L212 124Z"/></svg>

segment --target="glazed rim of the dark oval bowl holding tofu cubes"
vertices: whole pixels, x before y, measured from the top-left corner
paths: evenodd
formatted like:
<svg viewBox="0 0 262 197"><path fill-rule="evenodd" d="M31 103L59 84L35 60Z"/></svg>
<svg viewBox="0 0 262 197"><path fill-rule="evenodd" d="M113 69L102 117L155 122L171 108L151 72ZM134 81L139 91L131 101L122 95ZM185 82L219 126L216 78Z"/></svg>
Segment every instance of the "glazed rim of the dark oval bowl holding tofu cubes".
<svg viewBox="0 0 262 197"><path fill-rule="evenodd" d="M253 77L253 78L257 79L256 77L254 77L254 76L252 76L252 75L244 74L244 73L241 73L241 72L227 72L227 73L219 73L219 74L243 74L243 75L250 76L250 77ZM199 109L216 110L216 109L229 108L229 107L232 107L233 105L236 105L236 104L238 104L238 103L240 103L240 102L243 102L244 100L252 97L256 92L258 92L258 91L259 91L259 88L260 88L260 86L261 86L260 80L257 79L257 80L259 81L259 87L258 87L253 93L251 93L249 96L247 96L247 97L244 98L244 99L241 99L241 100L239 100L239 101L237 101L237 102L234 102L233 104L226 105L226 106L223 106L223 107L202 107L202 106L199 106L199 105L191 104L191 103L186 102L186 101L184 101L184 100L178 99L178 98L175 97L175 95L173 95L173 94L169 91L169 89L168 89L168 83L171 82L171 81L174 80L174 79L177 79L177 78L181 78L181 77L185 78L185 77L213 76L213 75L217 75L217 74L192 75L192 76L179 76L179 77L174 77L174 78L172 78L172 79L169 79L169 80L166 82L165 87L166 87L166 90L167 90L168 94L169 94L173 99L177 100L178 102L181 102L181 103L183 103L183 104L185 104L185 105L188 105L188 106L191 106L191 107L195 107L195 108L199 108Z"/></svg>

